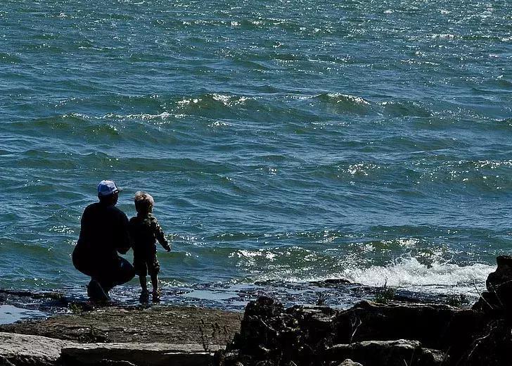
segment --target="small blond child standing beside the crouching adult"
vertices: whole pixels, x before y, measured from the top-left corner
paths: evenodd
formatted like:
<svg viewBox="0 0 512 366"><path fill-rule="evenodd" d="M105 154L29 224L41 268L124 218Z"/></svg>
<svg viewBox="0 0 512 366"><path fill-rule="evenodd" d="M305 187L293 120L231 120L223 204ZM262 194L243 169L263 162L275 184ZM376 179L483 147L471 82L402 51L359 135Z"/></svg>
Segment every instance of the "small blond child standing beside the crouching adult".
<svg viewBox="0 0 512 366"><path fill-rule="evenodd" d="M134 197L135 209L137 215L129 220L129 232L132 236L132 248L134 249L134 268L139 275L142 292L141 300L146 300L149 296L146 276L151 277L153 286L153 301L160 301L160 291L158 290L158 272L160 272L160 263L156 258L156 241L171 251L169 242L165 239L164 232L158 220L153 216L153 206L155 201L146 192L138 191Z"/></svg>

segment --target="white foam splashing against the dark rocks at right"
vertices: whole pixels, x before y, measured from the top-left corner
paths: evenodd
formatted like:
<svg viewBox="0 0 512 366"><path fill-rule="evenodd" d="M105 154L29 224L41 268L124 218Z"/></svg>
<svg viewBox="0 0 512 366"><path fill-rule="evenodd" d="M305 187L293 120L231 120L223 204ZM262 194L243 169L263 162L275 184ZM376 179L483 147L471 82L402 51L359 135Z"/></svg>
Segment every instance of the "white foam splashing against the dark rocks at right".
<svg viewBox="0 0 512 366"><path fill-rule="evenodd" d="M480 290L490 272L496 267L475 263L460 266L454 263L435 261L430 265L419 263L414 257L399 258L386 266L369 268L347 268L343 276L352 282L369 286L402 287L428 291L446 292L449 288L459 291Z"/></svg>

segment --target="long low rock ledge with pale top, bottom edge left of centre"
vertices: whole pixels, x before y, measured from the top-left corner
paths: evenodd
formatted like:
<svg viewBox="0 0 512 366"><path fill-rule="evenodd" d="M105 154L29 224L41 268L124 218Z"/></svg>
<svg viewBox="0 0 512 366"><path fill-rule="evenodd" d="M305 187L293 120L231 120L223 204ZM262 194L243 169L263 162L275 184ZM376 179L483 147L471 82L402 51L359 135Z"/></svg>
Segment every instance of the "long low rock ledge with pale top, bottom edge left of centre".
<svg viewBox="0 0 512 366"><path fill-rule="evenodd" d="M205 351L203 346L197 344L89 343L63 348L60 361L65 366L209 366L213 360L212 351L219 348L210 346Z"/></svg>

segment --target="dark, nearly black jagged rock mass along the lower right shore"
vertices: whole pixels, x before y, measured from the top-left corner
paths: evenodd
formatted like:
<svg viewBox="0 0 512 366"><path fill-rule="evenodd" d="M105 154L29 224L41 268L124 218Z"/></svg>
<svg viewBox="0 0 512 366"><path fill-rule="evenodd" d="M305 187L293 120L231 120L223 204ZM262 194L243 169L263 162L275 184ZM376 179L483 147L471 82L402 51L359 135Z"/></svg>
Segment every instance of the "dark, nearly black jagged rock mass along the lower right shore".
<svg viewBox="0 0 512 366"><path fill-rule="evenodd" d="M512 257L497 258L472 309L361 301L347 310L284 308L260 297L217 366L512 365Z"/></svg>

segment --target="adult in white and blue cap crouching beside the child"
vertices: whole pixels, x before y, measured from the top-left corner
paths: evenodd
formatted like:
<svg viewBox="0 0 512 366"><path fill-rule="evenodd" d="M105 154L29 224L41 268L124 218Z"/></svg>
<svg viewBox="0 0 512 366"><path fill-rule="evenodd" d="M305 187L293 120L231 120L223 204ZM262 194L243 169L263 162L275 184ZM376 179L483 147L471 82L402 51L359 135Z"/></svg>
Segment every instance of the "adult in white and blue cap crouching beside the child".
<svg viewBox="0 0 512 366"><path fill-rule="evenodd" d="M134 267L120 257L130 248L128 217L115 207L119 189L113 181L98 184L99 202L92 203L82 214L77 245L72 253L73 265L91 277L87 295L94 301L108 301L108 291L134 278Z"/></svg>

